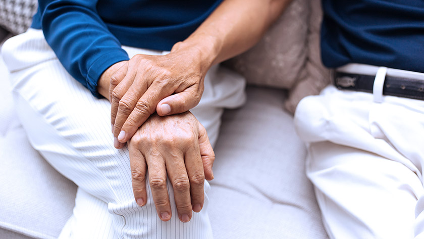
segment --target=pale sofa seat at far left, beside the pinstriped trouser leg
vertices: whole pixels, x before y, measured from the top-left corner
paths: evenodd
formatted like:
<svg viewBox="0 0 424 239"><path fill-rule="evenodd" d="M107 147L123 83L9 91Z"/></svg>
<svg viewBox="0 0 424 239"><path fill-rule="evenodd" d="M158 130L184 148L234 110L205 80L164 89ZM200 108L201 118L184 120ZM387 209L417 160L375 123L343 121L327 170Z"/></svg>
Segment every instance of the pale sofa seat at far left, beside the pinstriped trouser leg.
<svg viewBox="0 0 424 239"><path fill-rule="evenodd" d="M7 72L0 57L0 238L56 238L72 214L76 185L29 144Z"/></svg>

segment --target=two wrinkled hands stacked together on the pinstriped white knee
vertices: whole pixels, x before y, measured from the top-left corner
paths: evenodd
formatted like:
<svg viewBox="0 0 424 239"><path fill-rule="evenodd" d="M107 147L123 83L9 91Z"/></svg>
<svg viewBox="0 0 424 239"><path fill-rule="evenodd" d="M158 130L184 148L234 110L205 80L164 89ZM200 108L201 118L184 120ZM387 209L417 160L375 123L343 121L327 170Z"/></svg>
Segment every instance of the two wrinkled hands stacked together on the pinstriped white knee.
<svg viewBox="0 0 424 239"><path fill-rule="evenodd" d="M115 148L129 140L137 204L147 202L148 171L157 214L170 220L168 176L179 218L187 222L192 211L203 207L204 179L213 179L215 155L206 130L188 112L200 101L209 65L201 64L195 48L187 51L179 46L165 56L136 55L116 63L100 77L98 91L112 104Z"/></svg>

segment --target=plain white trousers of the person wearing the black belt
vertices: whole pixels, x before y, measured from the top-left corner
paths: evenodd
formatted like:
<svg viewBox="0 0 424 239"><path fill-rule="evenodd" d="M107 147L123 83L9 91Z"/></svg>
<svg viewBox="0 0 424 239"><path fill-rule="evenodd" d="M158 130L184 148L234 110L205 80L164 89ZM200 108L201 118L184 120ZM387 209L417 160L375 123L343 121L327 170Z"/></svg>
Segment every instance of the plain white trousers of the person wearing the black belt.
<svg viewBox="0 0 424 239"><path fill-rule="evenodd" d="M330 85L295 125L331 238L424 238L424 101Z"/></svg>

